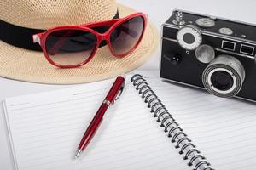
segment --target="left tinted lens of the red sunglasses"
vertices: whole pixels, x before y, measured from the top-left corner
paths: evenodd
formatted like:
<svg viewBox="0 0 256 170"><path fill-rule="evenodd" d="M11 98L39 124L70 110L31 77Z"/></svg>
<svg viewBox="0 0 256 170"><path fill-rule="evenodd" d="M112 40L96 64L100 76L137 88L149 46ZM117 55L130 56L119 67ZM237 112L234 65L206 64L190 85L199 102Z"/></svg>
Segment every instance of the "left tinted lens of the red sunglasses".
<svg viewBox="0 0 256 170"><path fill-rule="evenodd" d="M89 31L54 31L46 38L46 51L56 65L84 63L96 48L96 36Z"/></svg>

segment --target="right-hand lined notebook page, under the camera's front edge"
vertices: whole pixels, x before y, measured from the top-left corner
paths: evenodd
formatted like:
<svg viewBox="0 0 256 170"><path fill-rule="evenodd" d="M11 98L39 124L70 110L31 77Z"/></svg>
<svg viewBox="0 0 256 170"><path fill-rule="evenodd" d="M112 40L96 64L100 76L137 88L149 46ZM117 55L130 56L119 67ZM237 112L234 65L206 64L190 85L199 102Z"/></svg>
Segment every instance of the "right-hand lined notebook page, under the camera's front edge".
<svg viewBox="0 0 256 170"><path fill-rule="evenodd" d="M213 168L256 168L255 103L221 99L149 75L155 76L146 78L148 84Z"/></svg>

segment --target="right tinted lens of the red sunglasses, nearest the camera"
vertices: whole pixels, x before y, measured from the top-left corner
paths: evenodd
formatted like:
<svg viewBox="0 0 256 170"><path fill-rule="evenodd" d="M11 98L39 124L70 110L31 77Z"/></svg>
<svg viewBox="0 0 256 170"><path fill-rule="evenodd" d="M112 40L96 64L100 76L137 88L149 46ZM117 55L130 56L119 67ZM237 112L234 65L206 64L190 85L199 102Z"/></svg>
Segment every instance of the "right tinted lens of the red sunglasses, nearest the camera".
<svg viewBox="0 0 256 170"><path fill-rule="evenodd" d="M142 16L134 17L117 26L110 37L113 53L121 55L130 52L141 40L143 28Z"/></svg>

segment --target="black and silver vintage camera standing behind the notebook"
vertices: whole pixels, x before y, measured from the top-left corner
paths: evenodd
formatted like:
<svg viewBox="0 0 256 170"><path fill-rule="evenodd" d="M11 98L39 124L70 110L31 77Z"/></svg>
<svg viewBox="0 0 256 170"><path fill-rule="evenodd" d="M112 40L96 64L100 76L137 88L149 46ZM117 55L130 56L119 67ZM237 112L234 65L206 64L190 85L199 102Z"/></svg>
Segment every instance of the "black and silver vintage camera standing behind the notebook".
<svg viewBox="0 0 256 170"><path fill-rule="evenodd" d="M162 26L160 77L256 101L256 26L175 10Z"/></svg>

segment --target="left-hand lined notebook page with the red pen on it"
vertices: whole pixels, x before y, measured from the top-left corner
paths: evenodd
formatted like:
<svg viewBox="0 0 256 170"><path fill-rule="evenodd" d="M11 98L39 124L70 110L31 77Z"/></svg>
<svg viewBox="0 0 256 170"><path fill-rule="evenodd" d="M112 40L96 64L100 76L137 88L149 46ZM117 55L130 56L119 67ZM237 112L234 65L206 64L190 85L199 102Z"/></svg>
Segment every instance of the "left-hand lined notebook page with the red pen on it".
<svg viewBox="0 0 256 170"><path fill-rule="evenodd" d="M15 169L186 169L183 159L129 83L108 110L79 161L73 160L84 130L112 83L113 80L90 83L6 99Z"/></svg>

